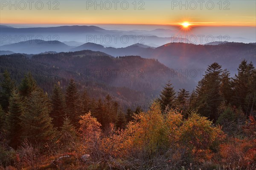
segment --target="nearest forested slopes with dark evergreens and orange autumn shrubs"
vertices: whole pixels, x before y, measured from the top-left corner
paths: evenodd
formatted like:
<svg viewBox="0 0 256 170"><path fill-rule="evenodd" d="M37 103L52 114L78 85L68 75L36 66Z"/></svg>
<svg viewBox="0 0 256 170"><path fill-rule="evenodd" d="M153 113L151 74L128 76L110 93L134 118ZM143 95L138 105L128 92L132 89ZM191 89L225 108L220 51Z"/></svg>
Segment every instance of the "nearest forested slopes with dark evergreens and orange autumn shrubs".
<svg viewBox="0 0 256 170"><path fill-rule="evenodd" d="M255 169L251 62L243 60L234 78L212 63L192 93L175 84L182 80L177 77L154 95L172 69L153 59L81 51L0 60L3 168ZM127 79L97 78L101 74L85 71L116 68L143 68L144 78L140 72ZM120 102L141 98L152 99L149 108L124 109Z"/></svg>

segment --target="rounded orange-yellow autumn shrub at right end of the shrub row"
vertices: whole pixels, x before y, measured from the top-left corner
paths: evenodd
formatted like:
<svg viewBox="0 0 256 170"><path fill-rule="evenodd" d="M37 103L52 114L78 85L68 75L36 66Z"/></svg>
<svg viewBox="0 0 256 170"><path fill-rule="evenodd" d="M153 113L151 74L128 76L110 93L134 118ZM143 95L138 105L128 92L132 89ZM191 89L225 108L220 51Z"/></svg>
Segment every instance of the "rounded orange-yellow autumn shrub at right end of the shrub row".
<svg viewBox="0 0 256 170"><path fill-rule="evenodd" d="M220 126L214 127L212 121L195 112L180 127L180 144L186 148L188 156L199 160L209 160L224 137Z"/></svg>

